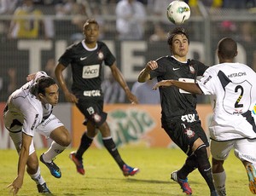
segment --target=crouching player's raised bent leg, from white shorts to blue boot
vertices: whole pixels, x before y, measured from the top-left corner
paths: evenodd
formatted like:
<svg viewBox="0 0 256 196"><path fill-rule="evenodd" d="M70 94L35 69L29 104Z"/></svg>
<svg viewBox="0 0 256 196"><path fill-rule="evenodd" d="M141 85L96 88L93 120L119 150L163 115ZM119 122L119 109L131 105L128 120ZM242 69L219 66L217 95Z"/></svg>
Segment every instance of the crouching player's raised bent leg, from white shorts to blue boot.
<svg viewBox="0 0 256 196"><path fill-rule="evenodd" d="M38 126L38 132L53 140L48 151L40 156L40 161L49 168L52 176L60 178L61 170L53 162L53 159L68 147L71 143L71 136L60 120L55 118L53 114Z"/></svg>

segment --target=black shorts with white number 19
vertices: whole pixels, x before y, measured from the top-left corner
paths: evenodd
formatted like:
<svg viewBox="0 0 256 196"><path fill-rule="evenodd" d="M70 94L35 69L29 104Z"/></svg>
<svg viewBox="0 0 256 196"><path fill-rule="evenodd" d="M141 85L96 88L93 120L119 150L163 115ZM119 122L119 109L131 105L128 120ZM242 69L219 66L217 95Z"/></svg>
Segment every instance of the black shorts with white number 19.
<svg viewBox="0 0 256 196"><path fill-rule="evenodd" d="M103 99L79 97L77 107L87 120L99 127L106 121L108 116L106 112L103 112L103 104Z"/></svg>

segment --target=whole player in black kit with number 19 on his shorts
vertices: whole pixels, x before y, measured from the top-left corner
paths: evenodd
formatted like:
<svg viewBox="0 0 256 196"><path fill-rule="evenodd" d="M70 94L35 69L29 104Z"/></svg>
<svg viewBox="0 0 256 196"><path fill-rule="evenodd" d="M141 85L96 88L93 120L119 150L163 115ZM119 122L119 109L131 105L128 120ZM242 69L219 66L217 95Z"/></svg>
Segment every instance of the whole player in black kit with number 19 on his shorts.
<svg viewBox="0 0 256 196"><path fill-rule="evenodd" d="M90 147L97 131L100 130L104 146L116 163L119 164L124 176L133 176L138 172L138 169L125 164L124 160L121 159L106 122L107 113L103 112L102 63L104 62L106 66L110 67L113 78L125 90L125 94L131 103L137 103L137 97L131 94L108 46L97 41L98 37L98 23L96 20L87 20L84 23L84 40L69 46L65 53L61 55L55 68L55 76L67 101L77 105L79 111L84 114L87 125L87 131L82 135L79 149L77 152L70 153L70 159L76 164L78 172L84 175L82 156ZM67 84L62 75L62 71L69 65L71 65L73 72L72 93L67 89Z"/></svg>

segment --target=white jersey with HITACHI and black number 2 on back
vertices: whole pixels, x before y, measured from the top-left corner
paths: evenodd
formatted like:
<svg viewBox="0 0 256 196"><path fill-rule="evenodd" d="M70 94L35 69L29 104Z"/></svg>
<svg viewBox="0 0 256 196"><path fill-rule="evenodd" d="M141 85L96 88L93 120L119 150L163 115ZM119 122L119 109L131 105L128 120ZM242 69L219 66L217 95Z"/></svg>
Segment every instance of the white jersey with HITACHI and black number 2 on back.
<svg viewBox="0 0 256 196"><path fill-rule="evenodd" d="M211 66L197 81L213 107L210 136L216 141L256 138L256 73L241 63Z"/></svg>

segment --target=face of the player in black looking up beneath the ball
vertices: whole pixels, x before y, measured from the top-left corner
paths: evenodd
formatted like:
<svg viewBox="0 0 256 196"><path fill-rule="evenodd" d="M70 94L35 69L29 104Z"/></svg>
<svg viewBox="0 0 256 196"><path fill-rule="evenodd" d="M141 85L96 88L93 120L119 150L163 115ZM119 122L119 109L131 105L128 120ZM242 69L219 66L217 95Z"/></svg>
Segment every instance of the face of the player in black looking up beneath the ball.
<svg viewBox="0 0 256 196"><path fill-rule="evenodd" d="M186 58L189 51L189 40L183 35L179 34L173 37L172 39L172 55L174 55L177 59Z"/></svg>

